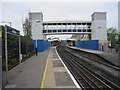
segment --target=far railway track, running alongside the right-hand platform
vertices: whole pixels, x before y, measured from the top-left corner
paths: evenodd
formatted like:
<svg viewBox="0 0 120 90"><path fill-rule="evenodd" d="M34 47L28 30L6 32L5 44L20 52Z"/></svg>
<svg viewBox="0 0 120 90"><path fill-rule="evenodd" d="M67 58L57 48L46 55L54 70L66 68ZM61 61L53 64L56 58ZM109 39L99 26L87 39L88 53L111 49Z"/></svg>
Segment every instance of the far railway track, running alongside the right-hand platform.
<svg viewBox="0 0 120 90"><path fill-rule="evenodd" d="M83 60L84 62L82 63L89 67L91 71L96 72L103 78L108 79L109 81L113 82L113 84L120 87L120 68L118 66L111 64L110 62L102 59L101 57L96 57L96 55L93 55L91 53L82 52L79 50L74 51L74 49L71 50L70 48L66 47L65 50L81 58L81 62Z"/></svg>

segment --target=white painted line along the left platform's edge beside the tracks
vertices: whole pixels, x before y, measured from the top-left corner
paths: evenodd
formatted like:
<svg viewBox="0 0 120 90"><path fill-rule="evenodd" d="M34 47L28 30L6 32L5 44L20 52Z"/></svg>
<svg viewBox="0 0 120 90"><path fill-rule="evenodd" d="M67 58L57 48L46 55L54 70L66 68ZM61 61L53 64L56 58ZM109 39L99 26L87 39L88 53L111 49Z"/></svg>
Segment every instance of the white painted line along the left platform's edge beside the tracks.
<svg viewBox="0 0 120 90"><path fill-rule="evenodd" d="M64 64L64 62L63 62L62 59L60 58L60 56L59 56L56 48L55 48L55 51L56 51L56 53L57 53L60 61L62 62L63 66L65 67L65 69L67 70L68 74L70 75L71 79L73 80L74 84L76 85L76 87L81 89L81 87L79 86L79 84L77 83L77 81L75 80L75 78L73 77L73 75L71 74L71 72L68 70L67 66ZM81 89L81 90L82 90L82 89Z"/></svg>

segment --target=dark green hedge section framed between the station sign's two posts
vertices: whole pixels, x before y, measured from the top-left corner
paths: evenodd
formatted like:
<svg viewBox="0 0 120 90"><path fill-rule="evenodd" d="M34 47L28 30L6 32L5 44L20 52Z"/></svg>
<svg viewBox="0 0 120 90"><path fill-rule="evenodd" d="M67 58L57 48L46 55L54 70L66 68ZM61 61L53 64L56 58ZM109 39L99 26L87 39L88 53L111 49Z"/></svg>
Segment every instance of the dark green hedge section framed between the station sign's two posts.
<svg viewBox="0 0 120 90"><path fill-rule="evenodd" d="M9 69L19 62L19 37L7 34L8 66Z"/></svg>

